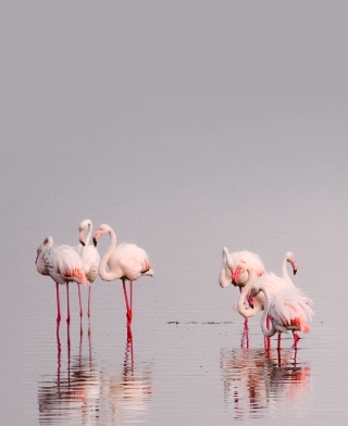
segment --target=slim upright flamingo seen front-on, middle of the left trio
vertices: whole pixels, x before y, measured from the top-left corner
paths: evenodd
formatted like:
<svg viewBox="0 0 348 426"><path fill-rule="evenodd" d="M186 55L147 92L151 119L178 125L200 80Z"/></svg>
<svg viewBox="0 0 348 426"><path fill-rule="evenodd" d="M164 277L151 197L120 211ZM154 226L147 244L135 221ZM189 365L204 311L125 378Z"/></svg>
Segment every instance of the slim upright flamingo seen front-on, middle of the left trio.
<svg viewBox="0 0 348 426"><path fill-rule="evenodd" d="M86 218L79 224L79 242L80 245L76 247L76 251L80 255L84 263L84 271L89 283L88 288L88 312L87 315L90 317L90 285L96 280L98 276L98 267L100 263L100 255L95 246L89 246L90 237L92 234L92 223L89 218ZM87 235L86 235L87 231ZM78 300L79 300L79 316L83 316L83 308L80 302L80 289L78 284Z"/></svg>

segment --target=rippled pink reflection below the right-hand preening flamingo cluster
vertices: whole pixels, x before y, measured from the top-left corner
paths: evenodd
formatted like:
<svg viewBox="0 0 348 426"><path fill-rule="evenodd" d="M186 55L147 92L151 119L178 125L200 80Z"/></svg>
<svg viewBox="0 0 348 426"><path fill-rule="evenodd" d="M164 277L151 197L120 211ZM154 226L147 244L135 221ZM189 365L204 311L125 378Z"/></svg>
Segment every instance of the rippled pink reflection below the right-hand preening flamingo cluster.
<svg viewBox="0 0 348 426"><path fill-rule="evenodd" d="M222 350L224 399L235 418L260 417L284 404L294 409L310 381L310 367L299 365L296 358L296 349Z"/></svg>

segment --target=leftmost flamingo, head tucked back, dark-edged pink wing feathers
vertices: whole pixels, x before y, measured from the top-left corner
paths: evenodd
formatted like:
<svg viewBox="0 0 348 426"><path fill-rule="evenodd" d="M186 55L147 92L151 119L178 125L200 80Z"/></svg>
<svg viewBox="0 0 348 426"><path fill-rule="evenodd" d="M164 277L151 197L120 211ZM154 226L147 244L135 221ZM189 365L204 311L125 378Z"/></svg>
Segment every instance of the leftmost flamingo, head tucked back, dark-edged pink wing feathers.
<svg viewBox="0 0 348 426"><path fill-rule="evenodd" d="M55 283L57 292L57 323L61 321L61 308L59 299L59 284L66 285L67 317L70 324L70 300L69 300L69 283L87 285L87 277L84 272L84 264L78 253L66 245L53 246L53 238L45 238L41 246L37 249L36 268L41 275L49 275Z"/></svg>

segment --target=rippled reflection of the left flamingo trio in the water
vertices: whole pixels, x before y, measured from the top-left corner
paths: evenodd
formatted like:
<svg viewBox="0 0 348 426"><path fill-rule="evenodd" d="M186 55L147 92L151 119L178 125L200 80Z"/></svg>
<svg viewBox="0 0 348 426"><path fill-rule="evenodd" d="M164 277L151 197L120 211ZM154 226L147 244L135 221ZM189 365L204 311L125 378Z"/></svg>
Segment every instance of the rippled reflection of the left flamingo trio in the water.
<svg viewBox="0 0 348 426"><path fill-rule="evenodd" d="M80 331L78 354L72 356L67 328L65 359L65 344L57 334L57 373L53 378L46 376L38 385L40 424L65 426L138 421L147 413L152 394L151 366L135 363L130 327L119 368L96 365L91 333L88 333L88 355L84 355L83 338Z"/></svg>

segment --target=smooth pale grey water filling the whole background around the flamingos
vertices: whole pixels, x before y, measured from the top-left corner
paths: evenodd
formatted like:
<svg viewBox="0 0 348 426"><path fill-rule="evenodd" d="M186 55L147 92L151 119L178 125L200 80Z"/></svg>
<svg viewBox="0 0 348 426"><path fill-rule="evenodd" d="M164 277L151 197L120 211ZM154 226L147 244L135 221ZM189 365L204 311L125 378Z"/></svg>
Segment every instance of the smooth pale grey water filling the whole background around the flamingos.
<svg viewBox="0 0 348 426"><path fill-rule="evenodd" d="M346 424L345 9L4 8L1 424ZM70 328L61 286L57 336L36 249L77 245L85 218L150 256L132 336L100 278L90 322L70 286ZM223 246L278 275L295 253L315 314L297 351L265 351L259 316L244 335Z"/></svg>

